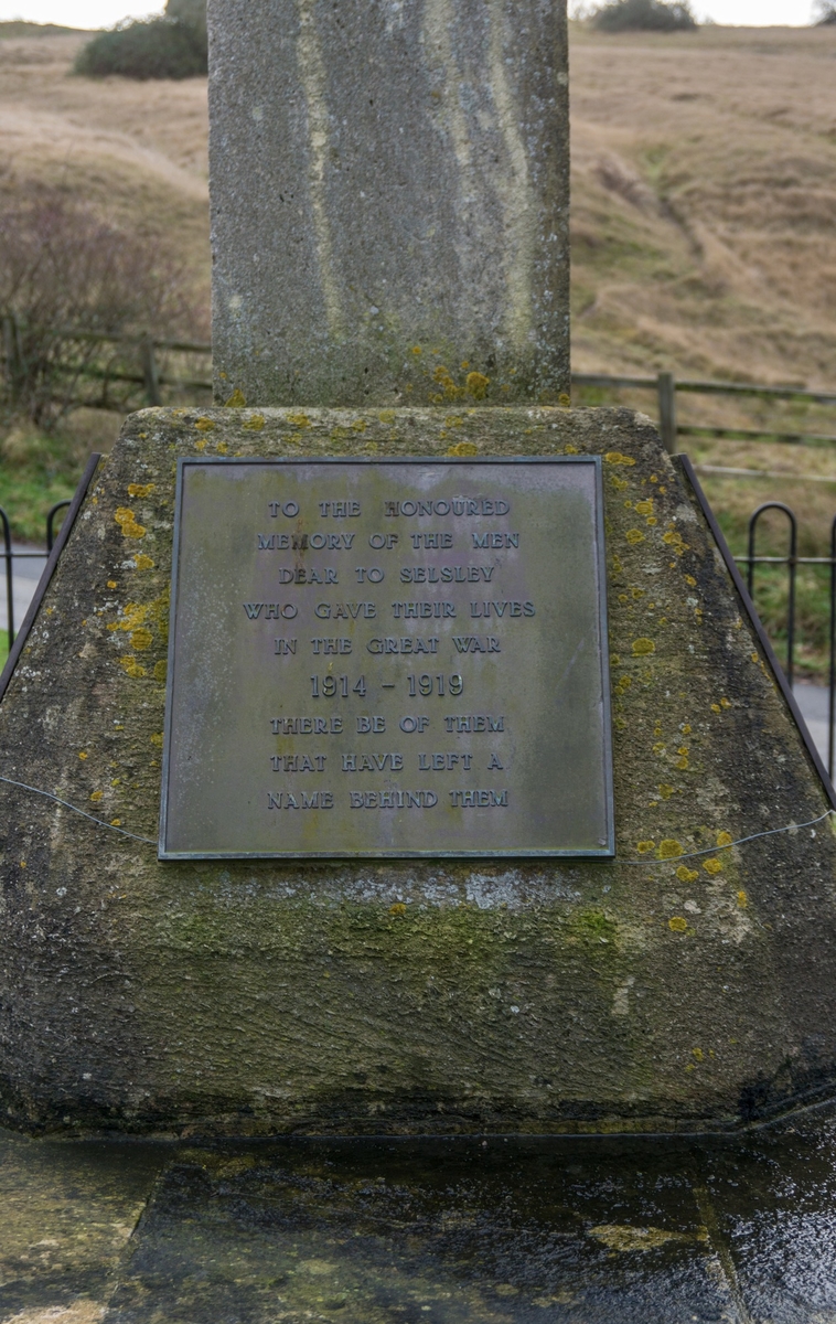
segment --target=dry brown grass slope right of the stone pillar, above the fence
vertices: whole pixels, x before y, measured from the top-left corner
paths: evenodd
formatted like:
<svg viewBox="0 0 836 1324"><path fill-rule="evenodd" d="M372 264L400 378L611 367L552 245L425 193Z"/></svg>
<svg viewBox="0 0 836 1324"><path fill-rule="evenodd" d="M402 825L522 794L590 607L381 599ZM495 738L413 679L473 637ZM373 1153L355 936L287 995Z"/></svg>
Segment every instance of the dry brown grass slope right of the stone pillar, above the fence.
<svg viewBox="0 0 836 1324"><path fill-rule="evenodd" d="M836 385L836 28L574 26L574 365Z"/></svg>

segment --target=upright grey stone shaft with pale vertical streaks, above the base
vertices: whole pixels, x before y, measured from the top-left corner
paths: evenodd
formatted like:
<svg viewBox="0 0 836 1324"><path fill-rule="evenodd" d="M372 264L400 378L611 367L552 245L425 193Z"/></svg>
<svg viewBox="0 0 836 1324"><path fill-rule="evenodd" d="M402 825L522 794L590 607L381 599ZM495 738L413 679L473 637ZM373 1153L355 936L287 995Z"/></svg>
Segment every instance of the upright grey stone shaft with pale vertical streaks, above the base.
<svg viewBox="0 0 836 1324"><path fill-rule="evenodd" d="M569 389L564 0L213 0L216 399Z"/></svg>

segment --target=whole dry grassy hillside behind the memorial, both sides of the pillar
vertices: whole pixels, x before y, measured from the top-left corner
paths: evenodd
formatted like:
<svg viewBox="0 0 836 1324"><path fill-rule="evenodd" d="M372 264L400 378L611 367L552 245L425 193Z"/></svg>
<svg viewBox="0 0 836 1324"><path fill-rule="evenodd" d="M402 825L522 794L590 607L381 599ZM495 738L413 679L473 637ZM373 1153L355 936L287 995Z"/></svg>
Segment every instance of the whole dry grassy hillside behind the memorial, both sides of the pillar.
<svg viewBox="0 0 836 1324"><path fill-rule="evenodd" d="M205 334L205 79L71 78L83 40L40 32L0 42L0 189L60 183L173 240ZM573 25L575 369L836 389L835 69L836 26L605 36ZM578 393L579 402L605 399ZM623 400L655 409L639 392ZM836 434L836 412L794 405L692 396L681 416ZM824 549L836 483L800 475L836 478L831 449L687 449L782 475L705 477L738 549L746 514L767 498L803 512L804 552Z"/></svg>

